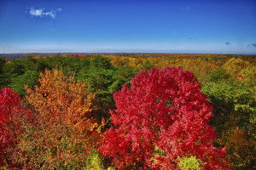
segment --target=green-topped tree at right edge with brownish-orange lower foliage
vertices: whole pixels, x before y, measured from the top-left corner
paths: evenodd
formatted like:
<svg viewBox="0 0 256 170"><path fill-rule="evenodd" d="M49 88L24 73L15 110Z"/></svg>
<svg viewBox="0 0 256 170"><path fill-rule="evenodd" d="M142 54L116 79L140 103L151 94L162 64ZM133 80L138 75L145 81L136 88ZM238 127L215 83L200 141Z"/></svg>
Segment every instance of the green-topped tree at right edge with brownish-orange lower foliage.
<svg viewBox="0 0 256 170"><path fill-rule="evenodd" d="M255 153L255 89L238 80L206 82L202 90L209 96L215 116L211 124L217 129L216 144L226 146L234 167L250 169ZM238 129L238 130L236 130Z"/></svg>

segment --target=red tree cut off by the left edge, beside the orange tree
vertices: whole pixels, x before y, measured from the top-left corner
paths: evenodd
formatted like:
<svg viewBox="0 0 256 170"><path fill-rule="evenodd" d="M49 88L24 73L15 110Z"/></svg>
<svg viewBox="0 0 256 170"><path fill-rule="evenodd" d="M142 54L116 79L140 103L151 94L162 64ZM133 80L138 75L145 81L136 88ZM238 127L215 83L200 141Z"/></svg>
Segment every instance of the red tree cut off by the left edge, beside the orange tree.
<svg viewBox="0 0 256 170"><path fill-rule="evenodd" d="M8 166L14 166L11 156L22 132L22 120L29 113L30 111L23 107L20 95L12 88L0 90L0 166L4 162Z"/></svg>

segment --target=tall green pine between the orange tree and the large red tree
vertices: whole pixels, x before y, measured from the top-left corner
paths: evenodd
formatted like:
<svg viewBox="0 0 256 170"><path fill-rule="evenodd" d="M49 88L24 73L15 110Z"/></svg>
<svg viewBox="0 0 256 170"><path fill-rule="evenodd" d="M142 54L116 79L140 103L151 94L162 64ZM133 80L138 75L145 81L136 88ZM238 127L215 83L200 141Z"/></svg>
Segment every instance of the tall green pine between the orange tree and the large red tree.
<svg viewBox="0 0 256 170"><path fill-rule="evenodd" d="M96 94L93 101L96 109L92 115L98 121L101 121L102 117L108 120L109 109L114 109L113 93L123 84L129 83L137 72L138 69L133 67L114 68L109 59L96 56L90 59L90 65L77 73L76 79L79 82L86 82L88 90Z"/></svg>

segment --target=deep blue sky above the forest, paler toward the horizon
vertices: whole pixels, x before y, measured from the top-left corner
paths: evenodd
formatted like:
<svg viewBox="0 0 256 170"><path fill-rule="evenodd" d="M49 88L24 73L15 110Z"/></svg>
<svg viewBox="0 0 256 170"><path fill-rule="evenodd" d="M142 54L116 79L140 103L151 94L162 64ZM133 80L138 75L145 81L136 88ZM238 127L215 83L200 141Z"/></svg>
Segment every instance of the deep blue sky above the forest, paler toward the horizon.
<svg viewBox="0 0 256 170"><path fill-rule="evenodd" d="M256 54L255 0L0 0L0 54Z"/></svg>

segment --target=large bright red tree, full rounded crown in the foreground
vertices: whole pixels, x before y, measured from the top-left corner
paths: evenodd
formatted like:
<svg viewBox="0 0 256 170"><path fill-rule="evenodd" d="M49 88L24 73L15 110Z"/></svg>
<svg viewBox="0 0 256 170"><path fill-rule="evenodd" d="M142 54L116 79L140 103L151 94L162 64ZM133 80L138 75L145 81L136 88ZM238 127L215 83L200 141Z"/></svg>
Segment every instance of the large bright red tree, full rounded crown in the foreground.
<svg viewBox="0 0 256 170"><path fill-rule="evenodd" d="M212 105L201 84L181 67L140 71L113 95L113 127L101 151L117 168L179 169L184 156L195 156L202 169L229 169L224 150L212 145L208 124Z"/></svg>

